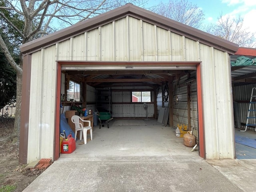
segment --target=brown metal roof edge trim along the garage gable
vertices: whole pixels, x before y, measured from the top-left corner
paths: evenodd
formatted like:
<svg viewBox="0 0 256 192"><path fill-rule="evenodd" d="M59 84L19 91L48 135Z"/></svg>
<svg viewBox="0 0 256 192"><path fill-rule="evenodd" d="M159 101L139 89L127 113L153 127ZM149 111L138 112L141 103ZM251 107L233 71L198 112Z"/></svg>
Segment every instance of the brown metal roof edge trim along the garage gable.
<svg viewBox="0 0 256 192"><path fill-rule="evenodd" d="M63 40L69 39L70 37L74 37L78 34L82 34L86 31L97 28L98 26L102 26L126 16L132 16L134 18L141 19L145 22L154 24L161 28L165 28L166 30L170 30L171 32L199 41L203 44L213 46L214 48L220 50L228 51L231 54L234 54L238 50L238 44L224 40L196 28L192 28L180 22L176 22L164 16L160 16L138 6L134 6L130 3L83 22L76 23L72 26L46 35L42 38L38 38L28 43L22 44L20 46L20 50L23 54L30 54L42 48L56 44Z"/></svg>

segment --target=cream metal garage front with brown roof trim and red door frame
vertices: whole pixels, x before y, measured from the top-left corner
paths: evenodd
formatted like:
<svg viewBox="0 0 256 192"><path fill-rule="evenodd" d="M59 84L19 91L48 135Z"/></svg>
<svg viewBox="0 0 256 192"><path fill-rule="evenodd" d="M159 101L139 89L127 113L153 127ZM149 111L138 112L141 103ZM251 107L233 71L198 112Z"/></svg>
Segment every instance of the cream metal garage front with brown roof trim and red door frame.
<svg viewBox="0 0 256 192"><path fill-rule="evenodd" d="M22 45L20 163L59 156L62 70L193 70L200 156L234 158L230 55L237 50L236 44L132 4ZM169 76L175 89L177 74Z"/></svg>

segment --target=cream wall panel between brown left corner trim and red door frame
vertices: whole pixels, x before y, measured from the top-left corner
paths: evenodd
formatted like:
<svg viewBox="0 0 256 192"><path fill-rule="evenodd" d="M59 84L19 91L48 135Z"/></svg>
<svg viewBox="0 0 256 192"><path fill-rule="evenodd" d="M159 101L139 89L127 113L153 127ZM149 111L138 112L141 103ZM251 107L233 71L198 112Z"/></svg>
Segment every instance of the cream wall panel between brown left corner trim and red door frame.
<svg viewBox="0 0 256 192"><path fill-rule="evenodd" d="M53 158L56 111L55 46L32 54L28 162ZM59 109L58 109L59 110Z"/></svg>

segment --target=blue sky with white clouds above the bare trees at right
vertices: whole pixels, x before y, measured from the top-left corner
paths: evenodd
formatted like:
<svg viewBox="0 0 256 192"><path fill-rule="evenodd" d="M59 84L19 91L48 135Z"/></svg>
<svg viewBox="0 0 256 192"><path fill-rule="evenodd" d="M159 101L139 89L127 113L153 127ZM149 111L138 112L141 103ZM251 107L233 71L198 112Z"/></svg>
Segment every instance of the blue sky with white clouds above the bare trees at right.
<svg viewBox="0 0 256 192"><path fill-rule="evenodd" d="M166 3L169 0L162 0ZM149 5L156 5L160 1L149 0ZM222 13L224 16L238 16L244 18L244 27L249 28L251 32L256 32L256 0L188 0L196 4L205 14L205 22L217 22L218 16Z"/></svg>

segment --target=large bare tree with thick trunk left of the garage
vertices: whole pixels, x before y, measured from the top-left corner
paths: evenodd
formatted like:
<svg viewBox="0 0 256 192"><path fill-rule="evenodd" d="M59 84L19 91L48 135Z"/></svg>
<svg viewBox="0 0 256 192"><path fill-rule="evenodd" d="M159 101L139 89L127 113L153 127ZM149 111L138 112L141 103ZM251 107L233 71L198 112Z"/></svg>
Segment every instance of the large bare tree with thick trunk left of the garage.
<svg viewBox="0 0 256 192"><path fill-rule="evenodd" d="M140 5L144 0L0 0L0 19L12 28L20 36L20 44L24 44L56 30L52 26L66 27L76 22L81 22L108 10L117 8L127 2ZM22 26L16 25L10 19L11 14L18 14L24 21ZM60 24L61 23L61 24ZM10 37L11 38L11 37ZM0 35L0 48L10 66L17 74L16 113L14 122L13 142L18 142L20 132L20 108L22 90L22 66L23 59L20 54L20 63L16 63L11 51L6 46L7 40ZM9 40L10 42L10 40ZM1 63L0 63L1 64Z"/></svg>

